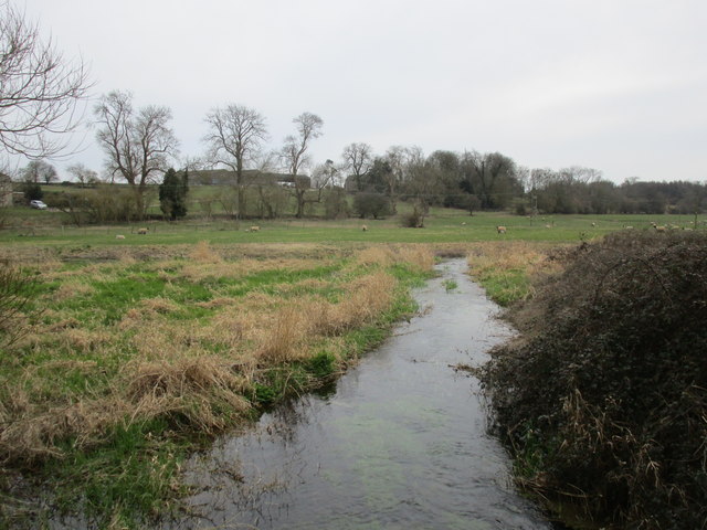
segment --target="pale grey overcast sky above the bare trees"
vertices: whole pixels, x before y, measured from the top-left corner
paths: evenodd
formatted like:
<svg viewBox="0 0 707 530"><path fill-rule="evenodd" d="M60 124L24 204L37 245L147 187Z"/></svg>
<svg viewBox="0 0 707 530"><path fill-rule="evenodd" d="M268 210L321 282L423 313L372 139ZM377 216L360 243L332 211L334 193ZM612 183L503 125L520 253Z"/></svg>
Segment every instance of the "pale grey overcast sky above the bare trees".
<svg viewBox="0 0 707 530"><path fill-rule="evenodd" d="M88 63L96 98L169 106L184 156L234 103L266 117L273 149L319 115L316 161L363 141L707 180L704 0L15 1ZM102 169L93 131L62 177L77 161Z"/></svg>

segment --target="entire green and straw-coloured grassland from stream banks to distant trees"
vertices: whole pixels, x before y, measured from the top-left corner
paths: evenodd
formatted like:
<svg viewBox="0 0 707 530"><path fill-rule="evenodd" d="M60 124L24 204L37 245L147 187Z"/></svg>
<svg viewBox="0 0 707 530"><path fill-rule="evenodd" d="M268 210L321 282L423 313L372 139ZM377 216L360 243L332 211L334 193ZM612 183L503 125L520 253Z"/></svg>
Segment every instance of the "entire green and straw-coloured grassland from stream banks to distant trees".
<svg viewBox="0 0 707 530"><path fill-rule="evenodd" d="M139 235L143 225L76 229L44 214L60 215L30 211L0 231L0 259L36 279L0 332L25 331L0 351L0 527L41 527L44 502L102 528L137 528L177 507L190 451L382 340L414 311L409 290L435 254L468 255L506 304L551 266L545 248L655 221L433 210L424 229L395 218L258 221L258 231L188 220ZM33 497L34 483L52 496Z"/></svg>

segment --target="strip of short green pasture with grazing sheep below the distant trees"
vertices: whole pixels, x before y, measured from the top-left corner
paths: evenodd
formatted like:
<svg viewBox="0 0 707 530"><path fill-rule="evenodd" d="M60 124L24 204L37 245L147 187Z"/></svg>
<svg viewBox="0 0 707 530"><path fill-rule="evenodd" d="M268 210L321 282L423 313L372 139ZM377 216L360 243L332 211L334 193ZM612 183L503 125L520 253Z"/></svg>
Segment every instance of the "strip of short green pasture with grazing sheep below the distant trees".
<svg viewBox="0 0 707 530"><path fill-rule="evenodd" d="M404 208L401 206L401 211ZM46 212L32 212L33 221ZM50 212L51 214L52 212ZM699 218L703 222L705 215ZM398 216L386 220L347 219L341 221L276 220L276 221L198 221L177 223L144 222L115 226L56 226L35 224L34 235L27 235L27 227L0 231L0 245L42 245L71 253L91 247L119 247L129 245L193 244L209 241L212 244L243 243L461 243L475 241L546 241L572 242L593 239L609 232L633 226L650 229L652 222L692 227L692 215L552 215L535 219L503 213L478 213L469 216L461 210L432 209L424 229L403 229ZM464 223L464 224L463 224ZM595 226L592 226L595 223ZM251 224L261 226L258 232L247 232ZM368 231L360 226L366 224ZM498 234L496 226L506 226L506 234ZM138 235L138 226L149 226L148 235ZM549 226L549 227L548 227ZM704 224L700 224L704 226ZM117 234L126 236L116 240Z"/></svg>

